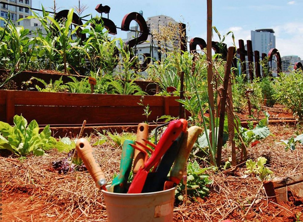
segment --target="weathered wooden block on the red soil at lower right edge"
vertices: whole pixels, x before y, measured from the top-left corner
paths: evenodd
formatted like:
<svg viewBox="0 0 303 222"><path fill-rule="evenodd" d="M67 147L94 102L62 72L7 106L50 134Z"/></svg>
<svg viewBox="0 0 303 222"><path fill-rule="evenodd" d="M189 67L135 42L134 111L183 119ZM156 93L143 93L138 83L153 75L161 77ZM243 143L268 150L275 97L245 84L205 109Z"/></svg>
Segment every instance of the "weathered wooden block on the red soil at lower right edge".
<svg viewBox="0 0 303 222"><path fill-rule="evenodd" d="M303 173L277 177L265 181L263 185L267 196L277 203L288 201L288 192L291 192L293 196L303 198Z"/></svg>

